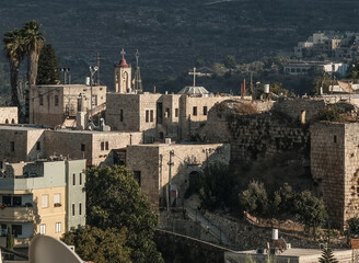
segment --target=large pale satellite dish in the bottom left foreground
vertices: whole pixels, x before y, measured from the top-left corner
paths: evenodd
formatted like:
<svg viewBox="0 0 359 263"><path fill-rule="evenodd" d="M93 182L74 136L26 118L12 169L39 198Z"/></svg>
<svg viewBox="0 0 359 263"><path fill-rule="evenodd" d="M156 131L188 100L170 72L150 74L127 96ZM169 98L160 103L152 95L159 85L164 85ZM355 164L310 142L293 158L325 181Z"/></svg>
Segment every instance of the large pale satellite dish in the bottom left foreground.
<svg viewBox="0 0 359 263"><path fill-rule="evenodd" d="M83 263L66 243L62 241L39 235L33 238L30 244L30 263Z"/></svg>

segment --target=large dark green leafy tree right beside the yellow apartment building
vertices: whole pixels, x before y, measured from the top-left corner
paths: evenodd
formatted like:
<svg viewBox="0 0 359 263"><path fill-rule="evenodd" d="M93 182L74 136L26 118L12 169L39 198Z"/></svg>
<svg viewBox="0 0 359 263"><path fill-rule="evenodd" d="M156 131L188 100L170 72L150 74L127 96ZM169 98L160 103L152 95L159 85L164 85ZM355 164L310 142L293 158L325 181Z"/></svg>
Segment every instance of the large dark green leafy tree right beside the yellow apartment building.
<svg viewBox="0 0 359 263"><path fill-rule="evenodd" d="M126 228L126 247L131 249L134 262L163 262L153 241L157 214L140 193L132 172L118 165L88 169L85 191L90 226Z"/></svg>

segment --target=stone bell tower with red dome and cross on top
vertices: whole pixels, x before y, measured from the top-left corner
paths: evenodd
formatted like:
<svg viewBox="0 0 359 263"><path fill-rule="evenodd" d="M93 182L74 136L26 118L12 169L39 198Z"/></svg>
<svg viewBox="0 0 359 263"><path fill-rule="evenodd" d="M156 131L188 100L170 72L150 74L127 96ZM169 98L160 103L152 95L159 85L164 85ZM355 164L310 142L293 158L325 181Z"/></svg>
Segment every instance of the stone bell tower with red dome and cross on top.
<svg viewBox="0 0 359 263"><path fill-rule="evenodd" d="M118 93L131 93L131 66L127 65L125 50L120 52L123 58L115 65L115 91Z"/></svg>

